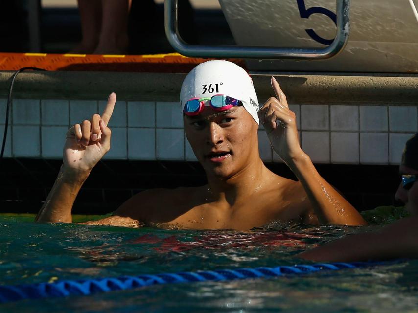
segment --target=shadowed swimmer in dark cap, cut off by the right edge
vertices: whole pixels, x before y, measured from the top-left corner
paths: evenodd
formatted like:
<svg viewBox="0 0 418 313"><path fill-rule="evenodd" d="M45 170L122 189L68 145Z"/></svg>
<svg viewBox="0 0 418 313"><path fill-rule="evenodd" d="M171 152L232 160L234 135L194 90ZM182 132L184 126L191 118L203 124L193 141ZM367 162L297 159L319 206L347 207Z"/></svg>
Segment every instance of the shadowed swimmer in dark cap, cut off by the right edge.
<svg viewBox="0 0 418 313"><path fill-rule="evenodd" d="M330 262L418 258L418 133L406 143L399 173L402 181L395 198L405 203L411 217L384 226L379 231L333 240L298 256Z"/></svg>

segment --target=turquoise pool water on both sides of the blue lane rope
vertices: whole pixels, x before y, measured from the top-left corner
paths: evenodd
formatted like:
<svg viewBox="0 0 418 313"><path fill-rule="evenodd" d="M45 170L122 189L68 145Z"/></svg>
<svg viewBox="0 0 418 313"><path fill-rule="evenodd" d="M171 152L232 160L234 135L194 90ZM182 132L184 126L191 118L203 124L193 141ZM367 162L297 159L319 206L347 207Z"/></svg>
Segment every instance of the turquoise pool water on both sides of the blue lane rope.
<svg viewBox="0 0 418 313"><path fill-rule="evenodd" d="M0 216L2 285L307 263L298 252L378 226L235 231L37 224ZM0 312L418 312L418 261L300 277L23 300Z"/></svg>

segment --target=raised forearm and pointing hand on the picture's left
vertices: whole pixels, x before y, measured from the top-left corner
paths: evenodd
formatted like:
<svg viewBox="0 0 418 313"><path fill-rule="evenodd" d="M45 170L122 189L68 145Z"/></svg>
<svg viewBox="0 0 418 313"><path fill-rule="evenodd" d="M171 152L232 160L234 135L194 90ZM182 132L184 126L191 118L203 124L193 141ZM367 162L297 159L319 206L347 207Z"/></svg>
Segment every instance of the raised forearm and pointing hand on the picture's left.
<svg viewBox="0 0 418 313"><path fill-rule="evenodd" d="M63 165L35 221L72 222L75 198L97 162L109 151L111 130L107 127L116 103L111 93L103 114L72 126L66 135Z"/></svg>

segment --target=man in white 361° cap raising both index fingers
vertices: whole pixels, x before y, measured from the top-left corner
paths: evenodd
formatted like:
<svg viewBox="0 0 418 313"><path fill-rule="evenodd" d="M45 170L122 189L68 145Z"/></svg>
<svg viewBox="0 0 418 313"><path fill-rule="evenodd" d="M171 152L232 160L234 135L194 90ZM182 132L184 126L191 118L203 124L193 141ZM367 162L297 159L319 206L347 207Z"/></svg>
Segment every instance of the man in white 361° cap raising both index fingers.
<svg viewBox="0 0 418 313"><path fill-rule="evenodd" d="M208 184L140 192L112 216L85 224L236 230L273 221L366 224L316 171L300 146L295 113L289 110L286 96L273 77L271 84L276 97L259 108L252 79L241 67L221 60L195 67L181 88L181 113L187 140ZM110 149L107 124L115 102L112 93L103 115L94 114L70 128L62 168L36 221L72 221L71 207L77 193ZM273 149L298 181L274 174L260 159L260 122Z"/></svg>

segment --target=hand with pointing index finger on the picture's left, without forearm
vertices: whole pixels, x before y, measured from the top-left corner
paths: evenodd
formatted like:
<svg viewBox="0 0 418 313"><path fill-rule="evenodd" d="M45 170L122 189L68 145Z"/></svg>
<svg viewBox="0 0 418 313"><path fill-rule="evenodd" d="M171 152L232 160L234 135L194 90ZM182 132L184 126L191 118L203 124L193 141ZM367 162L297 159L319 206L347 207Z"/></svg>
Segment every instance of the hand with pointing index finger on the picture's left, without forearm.
<svg viewBox="0 0 418 313"><path fill-rule="evenodd" d="M76 172L90 172L109 151L111 130L107 127L116 103L112 92L103 114L94 114L90 120L70 127L63 151L64 168Z"/></svg>

